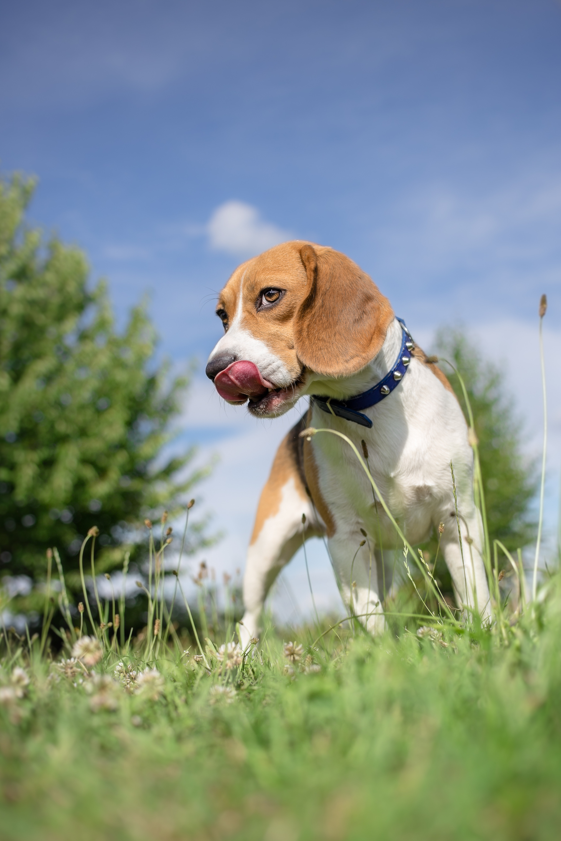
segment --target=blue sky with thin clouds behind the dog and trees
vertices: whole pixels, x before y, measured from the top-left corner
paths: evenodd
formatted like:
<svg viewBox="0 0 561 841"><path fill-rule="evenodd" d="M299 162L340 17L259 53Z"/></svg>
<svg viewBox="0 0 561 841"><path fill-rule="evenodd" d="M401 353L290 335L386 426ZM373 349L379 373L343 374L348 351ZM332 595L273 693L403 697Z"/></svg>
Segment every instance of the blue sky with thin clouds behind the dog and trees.
<svg viewBox="0 0 561 841"><path fill-rule="evenodd" d="M466 325L504 360L537 452L546 292L553 529L561 3L21 0L2 19L3 172L40 177L31 216L86 249L119 320L151 294L178 364L204 368L236 264L298 236L356 260L427 345ZM241 565L286 421L225 410L199 376L184 426L220 452L214 560Z"/></svg>

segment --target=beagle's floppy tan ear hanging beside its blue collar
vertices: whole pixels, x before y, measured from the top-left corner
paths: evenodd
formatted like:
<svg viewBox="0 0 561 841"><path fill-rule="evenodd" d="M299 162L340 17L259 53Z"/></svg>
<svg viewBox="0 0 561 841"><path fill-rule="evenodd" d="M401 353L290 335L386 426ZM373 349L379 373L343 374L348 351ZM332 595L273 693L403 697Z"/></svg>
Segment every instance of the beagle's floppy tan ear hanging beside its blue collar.
<svg viewBox="0 0 561 841"><path fill-rule="evenodd" d="M294 320L294 349L306 368L348 377L372 360L394 318L389 300L339 251L300 248L307 295Z"/></svg>

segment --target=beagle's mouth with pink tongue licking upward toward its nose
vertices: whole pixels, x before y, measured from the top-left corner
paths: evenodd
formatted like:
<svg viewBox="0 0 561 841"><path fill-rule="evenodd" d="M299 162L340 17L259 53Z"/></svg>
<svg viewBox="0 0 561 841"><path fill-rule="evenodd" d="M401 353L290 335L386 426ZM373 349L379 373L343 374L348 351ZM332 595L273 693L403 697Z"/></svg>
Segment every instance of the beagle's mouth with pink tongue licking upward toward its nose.
<svg viewBox="0 0 561 841"><path fill-rule="evenodd" d="M241 360L232 362L224 371L214 377L216 390L228 403L247 406L252 415L275 415L282 407L297 399L301 378L288 386L276 387L274 383L262 378L261 372L253 362Z"/></svg>

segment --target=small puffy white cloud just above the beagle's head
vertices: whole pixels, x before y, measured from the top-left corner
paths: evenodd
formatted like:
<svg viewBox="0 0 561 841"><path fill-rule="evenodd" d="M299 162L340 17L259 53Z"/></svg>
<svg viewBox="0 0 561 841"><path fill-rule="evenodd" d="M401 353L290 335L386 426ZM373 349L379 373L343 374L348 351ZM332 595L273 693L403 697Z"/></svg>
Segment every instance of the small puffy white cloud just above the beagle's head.
<svg viewBox="0 0 561 841"><path fill-rule="evenodd" d="M288 231L262 220L257 208L238 201L214 210L207 233L213 248L246 257L291 239Z"/></svg>

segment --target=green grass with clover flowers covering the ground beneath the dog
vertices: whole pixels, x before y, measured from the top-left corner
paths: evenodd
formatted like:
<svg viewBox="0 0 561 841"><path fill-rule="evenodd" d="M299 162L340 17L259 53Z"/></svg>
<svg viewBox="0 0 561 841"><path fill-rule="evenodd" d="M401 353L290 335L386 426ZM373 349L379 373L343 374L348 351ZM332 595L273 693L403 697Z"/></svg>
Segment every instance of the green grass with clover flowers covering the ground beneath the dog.
<svg viewBox="0 0 561 841"><path fill-rule="evenodd" d="M0 683L30 681L0 705L2 838L558 838L558 579L506 638L312 636L292 665L272 629L230 670L207 645L210 674L166 648L133 694L111 651L88 694L12 637Z"/></svg>

